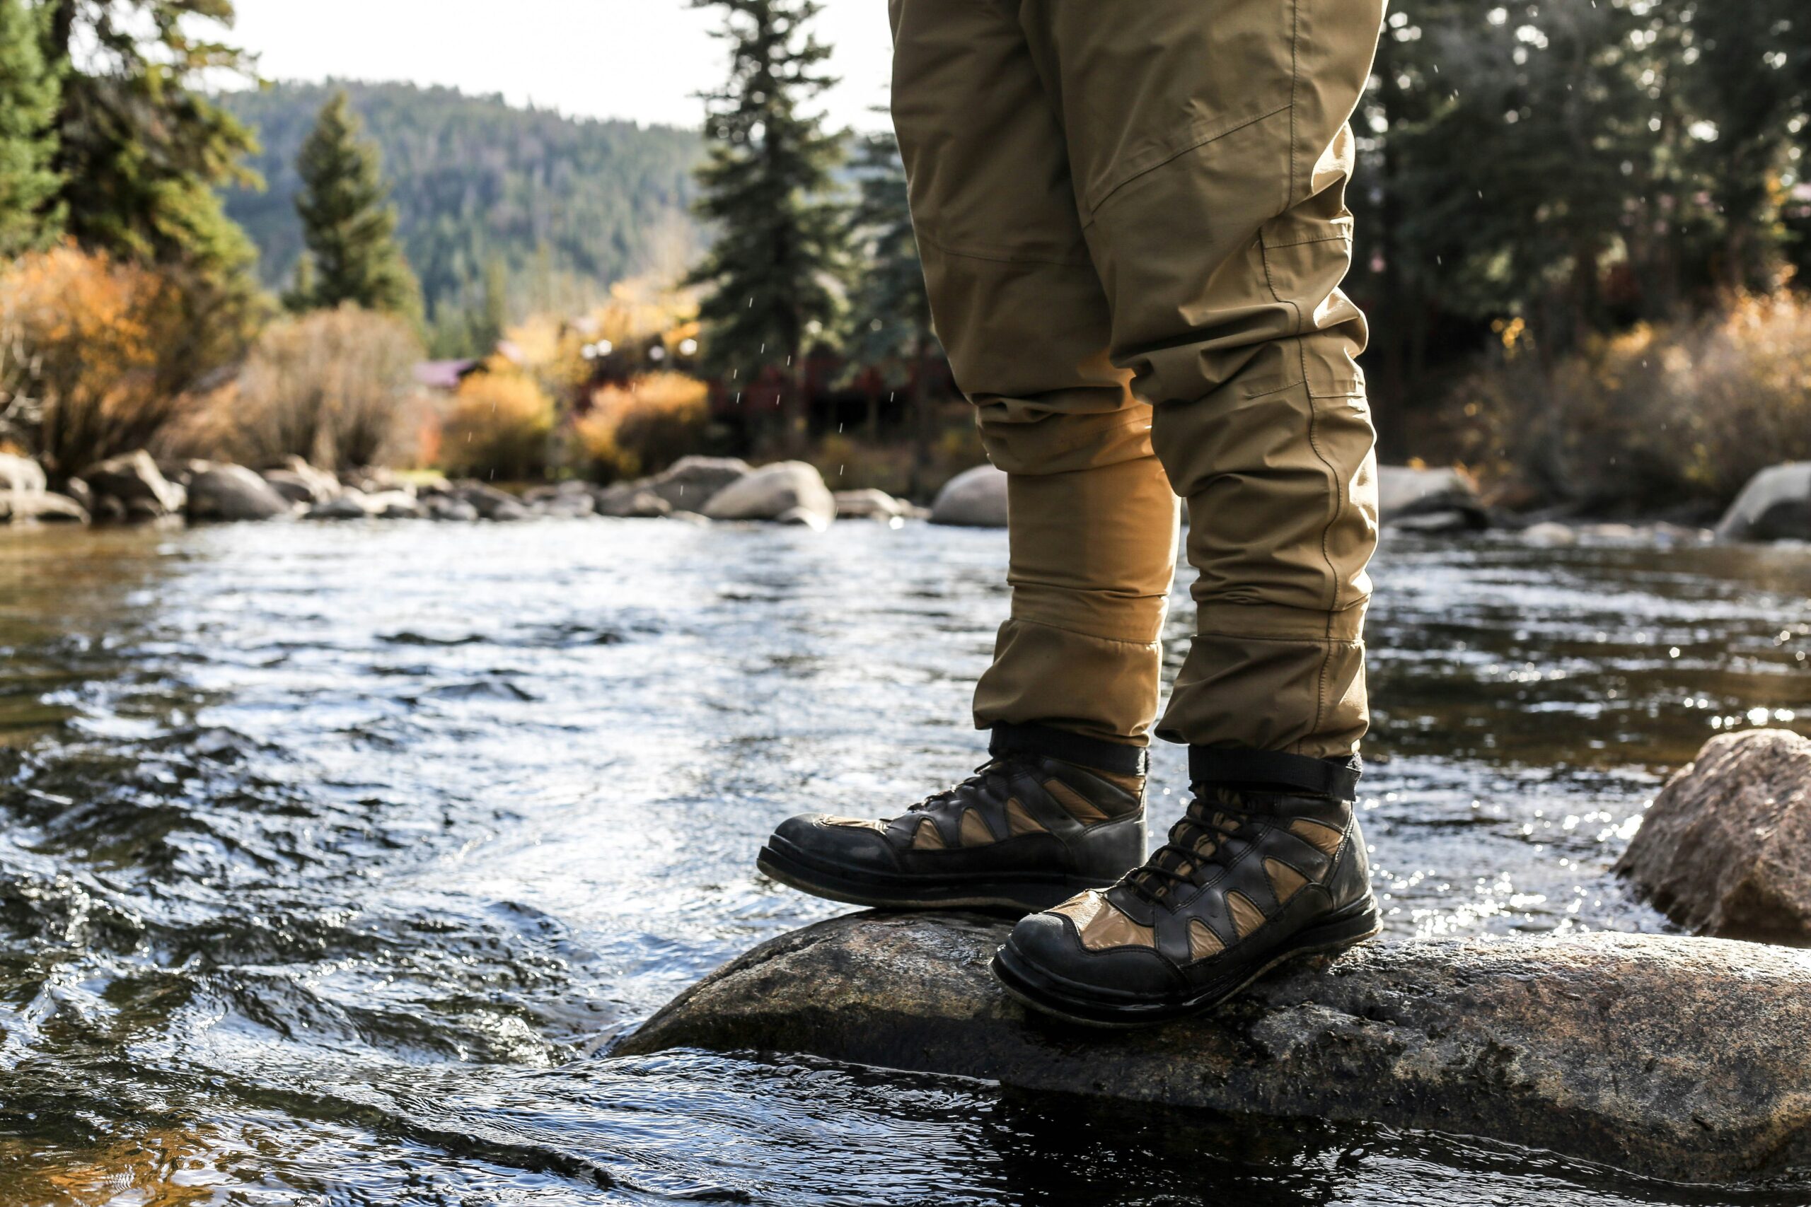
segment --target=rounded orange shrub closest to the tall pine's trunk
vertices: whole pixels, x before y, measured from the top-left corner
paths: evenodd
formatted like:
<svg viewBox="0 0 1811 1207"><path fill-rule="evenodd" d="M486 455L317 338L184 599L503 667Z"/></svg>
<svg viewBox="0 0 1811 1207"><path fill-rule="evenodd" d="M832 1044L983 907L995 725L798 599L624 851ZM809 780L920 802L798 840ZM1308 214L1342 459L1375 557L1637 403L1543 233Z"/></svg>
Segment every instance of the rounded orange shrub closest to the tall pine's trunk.
<svg viewBox="0 0 1811 1207"><path fill-rule="evenodd" d="M628 385L605 385L572 425L585 472L599 481L666 469L704 443L710 420L703 382L683 373L648 373Z"/></svg>

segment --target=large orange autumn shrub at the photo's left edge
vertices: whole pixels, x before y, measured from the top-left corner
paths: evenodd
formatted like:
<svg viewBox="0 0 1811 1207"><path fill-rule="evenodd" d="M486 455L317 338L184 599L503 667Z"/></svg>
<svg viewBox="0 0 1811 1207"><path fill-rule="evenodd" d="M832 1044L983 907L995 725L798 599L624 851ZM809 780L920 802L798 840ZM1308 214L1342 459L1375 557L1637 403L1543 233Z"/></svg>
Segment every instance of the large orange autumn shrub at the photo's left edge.
<svg viewBox="0 0 1811 1207"><path fill-rule="evenodd" d="M53 481L156 447L230 349L179 275L62 244L0 266L0 436Z"/></svg>

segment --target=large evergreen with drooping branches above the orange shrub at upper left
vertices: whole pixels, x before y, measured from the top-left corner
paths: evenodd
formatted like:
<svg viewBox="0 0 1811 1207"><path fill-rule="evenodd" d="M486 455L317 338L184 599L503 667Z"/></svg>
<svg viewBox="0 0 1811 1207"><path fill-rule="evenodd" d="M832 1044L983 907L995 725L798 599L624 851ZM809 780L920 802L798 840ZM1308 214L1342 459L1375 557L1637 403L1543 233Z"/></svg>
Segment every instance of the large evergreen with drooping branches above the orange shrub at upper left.
<svg viewBox="0 0 1811 1207"><path fill-rule="evenodd" d="M230 27L232 0L42 0L40 16L62 80L54 206L80 244L172 284L192 338L163 387L185 389L246 347L264 308L252 242L216 192L257 181L241 163L257 141L203 90L252 67L196 31Z"/></svg>

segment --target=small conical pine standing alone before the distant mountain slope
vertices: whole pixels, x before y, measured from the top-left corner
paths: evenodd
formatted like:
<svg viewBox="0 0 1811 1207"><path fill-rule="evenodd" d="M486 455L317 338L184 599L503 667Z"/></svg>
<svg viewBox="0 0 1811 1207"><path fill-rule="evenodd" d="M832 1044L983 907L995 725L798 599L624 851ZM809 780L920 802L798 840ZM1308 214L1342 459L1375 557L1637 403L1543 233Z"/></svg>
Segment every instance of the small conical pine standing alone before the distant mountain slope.
<svg viewBox="0 0 1811 1207"><path fill-rule="evenodd" d="M420 286L397 242L397 212L386 203L378 152L346 92L335 92L295 161L302 192L302 242L313 261L311 302L420 317Z"/></svg>

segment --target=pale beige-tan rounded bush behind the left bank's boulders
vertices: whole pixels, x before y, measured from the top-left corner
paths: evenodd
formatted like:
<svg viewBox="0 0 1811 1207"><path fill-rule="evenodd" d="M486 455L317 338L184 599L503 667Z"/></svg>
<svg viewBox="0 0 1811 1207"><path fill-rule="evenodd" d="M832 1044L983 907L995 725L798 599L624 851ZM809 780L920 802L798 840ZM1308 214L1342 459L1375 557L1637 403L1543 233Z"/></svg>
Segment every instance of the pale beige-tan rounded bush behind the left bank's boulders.
<svg viewBox="0 0 1811 1207"><path fill-rule="evenodd" d="M417 432L420 358L406 320L357 306L273 322L239 373L228 445L254 465L286 456L322 469L398 460Z"/></svg>

